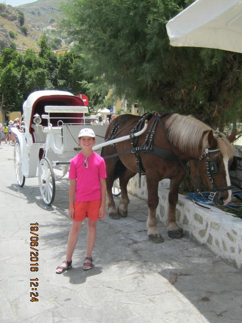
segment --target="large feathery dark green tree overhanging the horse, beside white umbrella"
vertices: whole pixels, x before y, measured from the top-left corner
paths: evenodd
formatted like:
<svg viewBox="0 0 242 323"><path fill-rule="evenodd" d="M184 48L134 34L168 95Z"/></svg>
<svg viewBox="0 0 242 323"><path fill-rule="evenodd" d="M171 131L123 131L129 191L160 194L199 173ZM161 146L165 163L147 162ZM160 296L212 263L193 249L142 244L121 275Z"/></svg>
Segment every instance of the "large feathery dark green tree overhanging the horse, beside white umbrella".
<svg viewBox="0 0 242 323"><path fill-rule="evenodd" d="M242 57L169 45L165 24L192 2L69 0L63 24L119 97L223 128L242 117Z"/></svg>

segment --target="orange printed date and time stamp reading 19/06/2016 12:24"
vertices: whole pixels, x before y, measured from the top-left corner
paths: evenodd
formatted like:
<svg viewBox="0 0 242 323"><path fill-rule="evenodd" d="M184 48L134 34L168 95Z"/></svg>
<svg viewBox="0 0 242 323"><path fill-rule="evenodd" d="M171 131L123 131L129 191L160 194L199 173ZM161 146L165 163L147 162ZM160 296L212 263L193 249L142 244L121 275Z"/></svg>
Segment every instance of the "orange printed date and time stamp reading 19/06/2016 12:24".
<svg viewBox="0 0 242 323"><path fill-rule="evenodd" d="M30 271L31 272L38 272L38 255L39 255L39 250L36 248L38 247L39 243L39 235L37 234L37 231L39 230L38 228L38 223L30 223ZM37 292L37 287L38 287L38 278L34 278L30 280L30 287L33 292L30 292L30 302L38 302L38 295L39 293Z"/></svg>

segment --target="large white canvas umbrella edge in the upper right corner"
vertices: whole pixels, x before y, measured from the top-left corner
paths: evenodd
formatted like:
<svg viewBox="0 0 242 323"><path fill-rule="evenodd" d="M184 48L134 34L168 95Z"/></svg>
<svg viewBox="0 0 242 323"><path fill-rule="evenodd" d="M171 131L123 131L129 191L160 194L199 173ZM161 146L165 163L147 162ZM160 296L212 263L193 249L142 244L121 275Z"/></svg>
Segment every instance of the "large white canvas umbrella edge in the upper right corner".
<svg viewBox="0 0 242 323"><path fill-rule="evenodd" d="M172 46L242 52L242 0L197 0L166 24Z"/></svg>

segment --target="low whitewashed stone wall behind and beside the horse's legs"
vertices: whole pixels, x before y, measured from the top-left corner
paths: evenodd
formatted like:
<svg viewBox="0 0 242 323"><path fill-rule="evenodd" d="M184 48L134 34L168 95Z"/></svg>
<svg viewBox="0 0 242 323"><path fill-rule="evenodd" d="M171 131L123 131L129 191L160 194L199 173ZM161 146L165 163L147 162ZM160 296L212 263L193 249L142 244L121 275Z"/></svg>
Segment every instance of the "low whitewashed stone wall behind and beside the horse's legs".
<svg viewBox="0 0 242 323"><path fill-rule="evenodd" d="M242 164L242 159L240 163ZM239 172L239 168L236 172ZM242 172L242 165L240 172ZM141 188L139 188L138 175L132 178L128 184L128 191L135 196L147 199L145 176L141 177ZM157 218L165 225L167 223L168 191L169 180L161 181L158 188ZM204 244L236 268L242 269L241 219L233 217L229 211L223 212L213 206L208 206L208 208L199 206L191 199L179 194L176 220L185 234Z"/></svg>

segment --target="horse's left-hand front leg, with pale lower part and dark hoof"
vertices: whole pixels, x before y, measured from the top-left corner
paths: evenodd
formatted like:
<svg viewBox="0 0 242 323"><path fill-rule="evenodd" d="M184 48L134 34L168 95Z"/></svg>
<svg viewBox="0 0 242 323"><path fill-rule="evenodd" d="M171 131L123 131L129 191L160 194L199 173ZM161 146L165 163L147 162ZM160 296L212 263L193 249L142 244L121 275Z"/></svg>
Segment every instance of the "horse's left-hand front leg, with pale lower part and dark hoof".
<svg viewBox="0 0 242 323"><path fill-rule="evenodd" d="M150 239L150 242L161 243L164 241L161 234L157 229L156 222L156 207L159 203L158 197L158 184L156 176L147 176L146 174L146 183L148 190L148 206L149 206L149 216L146 222L147 234Z"/></svg>

